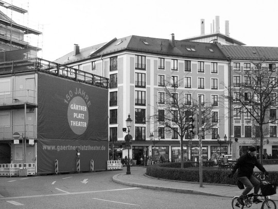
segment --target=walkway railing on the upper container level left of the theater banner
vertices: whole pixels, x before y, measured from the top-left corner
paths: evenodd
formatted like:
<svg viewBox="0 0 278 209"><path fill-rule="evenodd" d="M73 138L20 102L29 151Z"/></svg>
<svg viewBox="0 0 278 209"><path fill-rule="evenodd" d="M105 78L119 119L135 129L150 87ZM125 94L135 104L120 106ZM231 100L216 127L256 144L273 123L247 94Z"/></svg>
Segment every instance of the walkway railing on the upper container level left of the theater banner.
<svg viewBox="0 0 278 209"><path fill-rule="evenodd" d="M37 103L36 95L36 91L29 89L0 92L0 106L19 105L24 102Z"/></svg>

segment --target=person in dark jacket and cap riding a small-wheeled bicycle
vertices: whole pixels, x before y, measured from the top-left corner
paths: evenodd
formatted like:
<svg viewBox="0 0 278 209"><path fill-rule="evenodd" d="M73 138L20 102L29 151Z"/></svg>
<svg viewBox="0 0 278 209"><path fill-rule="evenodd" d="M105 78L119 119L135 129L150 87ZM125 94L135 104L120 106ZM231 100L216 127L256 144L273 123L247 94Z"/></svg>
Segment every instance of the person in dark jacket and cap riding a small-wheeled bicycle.
<svg viewBox="0 0 278 209"><path fill-rule="evenodd" d="M237 201L244 205L244 198L248 195L249 191L252 190L254 185L254 194L257 195L259 191L259 181L252 176L253 169L256 166L260 171L264 172L265 175L268 175L268 172L266 169L260 164L256 159L256 148L255 147L249 147L246 154L242 154L240 158L237 160L232 172L228 175L230 178L234 176L234 173L238 169L238 180L245 185L245 190L242 192L239 198L237 198ZM257 198L257 196L254 196L253 199L254 203L262 202Z"/></svg>

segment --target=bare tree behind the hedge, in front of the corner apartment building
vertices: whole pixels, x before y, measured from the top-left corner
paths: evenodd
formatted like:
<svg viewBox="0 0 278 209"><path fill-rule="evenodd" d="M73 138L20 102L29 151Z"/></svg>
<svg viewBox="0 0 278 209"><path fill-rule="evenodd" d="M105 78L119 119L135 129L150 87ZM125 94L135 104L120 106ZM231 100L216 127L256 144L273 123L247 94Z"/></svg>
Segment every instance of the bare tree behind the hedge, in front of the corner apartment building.
<svg viewBox="0 0 278 209"><path fill-rule="evenodd" d="M181 149L181 168L183 168L184 152L183 152L183 141L190 140L195 136L189 132L189 120L188 117L193 115L198 110L198 102L191 98L192 94L189 92L183 92L181 90L182 81L164 81L165 85L161 89L164 93L163 102L158 105L158 109L154 115L149 116L148 123L158 124L159 127L164 127L165 133L175 133L180 138L180 149ZM190 92L193 93L193 92ZM190 96L190 99L185 98L185 94ZM194 95L194 93L193 93ZM161 98L159 98L161 100ZM213 106L211 104L205 104L202 106L202 124L203 135L213 128L214 124L211 120L211 111ZM158 130L157 130L158 131Z"/></svg>

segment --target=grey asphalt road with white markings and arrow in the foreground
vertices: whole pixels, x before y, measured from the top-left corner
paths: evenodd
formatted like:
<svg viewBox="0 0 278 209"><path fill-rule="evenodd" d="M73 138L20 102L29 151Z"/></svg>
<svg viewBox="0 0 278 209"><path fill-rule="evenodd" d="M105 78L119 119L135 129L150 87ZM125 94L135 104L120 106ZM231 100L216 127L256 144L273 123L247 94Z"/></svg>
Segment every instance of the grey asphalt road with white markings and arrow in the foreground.
<svg viewBox="0 0 278 209"><path fill-rule="evenodd" d="M113 182L112 177L121 172L124 171L1 177L0 208L231 208L231 198L171 193Z"/></svg>

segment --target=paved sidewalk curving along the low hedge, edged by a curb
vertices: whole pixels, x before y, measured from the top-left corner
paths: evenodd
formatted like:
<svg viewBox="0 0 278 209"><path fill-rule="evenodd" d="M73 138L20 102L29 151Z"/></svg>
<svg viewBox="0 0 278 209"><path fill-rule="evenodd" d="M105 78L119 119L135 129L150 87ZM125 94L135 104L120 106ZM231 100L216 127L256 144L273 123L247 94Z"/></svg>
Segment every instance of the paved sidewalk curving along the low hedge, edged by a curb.
<svg viewBox="0 0 278 209"><path fill-rule="evenodd" d="M242 192L242 190L234 185L203 183L203 187L200 187L200 183L161 180L148 177L145 175L146 167L131 167L130 170L131 175L126 175L126 167L124 167L123 173L113 176L112 180L127 186L171 191L174 193L234 197L240 195ZM278 201L278 194L272 195L270 199Z"/></svg>

